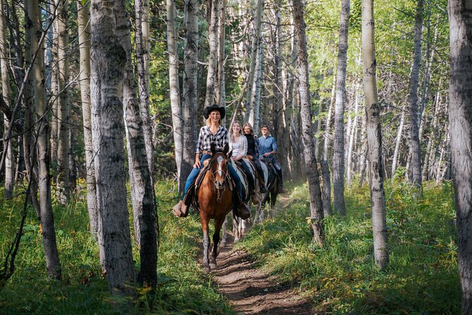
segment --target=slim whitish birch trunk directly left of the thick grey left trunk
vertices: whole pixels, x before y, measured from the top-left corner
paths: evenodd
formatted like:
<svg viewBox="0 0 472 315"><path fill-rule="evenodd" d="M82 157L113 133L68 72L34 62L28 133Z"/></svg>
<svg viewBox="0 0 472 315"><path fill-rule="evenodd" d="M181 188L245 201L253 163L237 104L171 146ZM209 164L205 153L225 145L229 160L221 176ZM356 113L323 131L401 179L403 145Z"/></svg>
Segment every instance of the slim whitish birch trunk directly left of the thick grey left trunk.
<svg viewBox="0 0 472 315"><path fill-rule="evenodd" d="M82 100L83 137L85 148L85 172L87 180L87 210L90 232L97 238L98 206L95 186L95 162L92 144L92 117L90 113L90 4L77 1L78 40L80 51L80 98Z"/></svg>

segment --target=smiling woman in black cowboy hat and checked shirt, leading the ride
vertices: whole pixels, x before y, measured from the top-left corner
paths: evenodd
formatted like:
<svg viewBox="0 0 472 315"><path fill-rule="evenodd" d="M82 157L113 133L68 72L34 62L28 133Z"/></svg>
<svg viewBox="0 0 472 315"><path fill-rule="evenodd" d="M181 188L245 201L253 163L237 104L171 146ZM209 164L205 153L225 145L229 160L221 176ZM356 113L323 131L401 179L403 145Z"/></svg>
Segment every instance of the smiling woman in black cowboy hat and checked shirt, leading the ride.
<svg viewBox="0 0 472 315"><path fill-rule="evenodd" d="M200 134L198 136L197 148L195 150L195 164L193 164L192 172L188 175L185 188L183 189L183 197L181 201L178 201L176 206L174 206L172 212L177 217L186 217L188 215L188 206L190 206L190 200L186 200L186 195L188 189L190 189L191 184L195 182L195 179L198 177L200 168L202 167L203 161L212 157L211 144L214 143L217 149L223 149L224 145L228 143L228 131L223 126L222 119L225 114L224 107L219 107L214 104L212 106L205 107L203 110L203 117L206 119L206 126L202 126L200 129ZM241 180L238 177L238 173L231 166L228 167L229 174L234 180L236 187L238 189L238 194L236 194L235 205L234 205L234 214L241 217L247 215L250 212L248 206L242 201L242 192L241 192ZM190 199L190 198L187 198Z"/></svg>

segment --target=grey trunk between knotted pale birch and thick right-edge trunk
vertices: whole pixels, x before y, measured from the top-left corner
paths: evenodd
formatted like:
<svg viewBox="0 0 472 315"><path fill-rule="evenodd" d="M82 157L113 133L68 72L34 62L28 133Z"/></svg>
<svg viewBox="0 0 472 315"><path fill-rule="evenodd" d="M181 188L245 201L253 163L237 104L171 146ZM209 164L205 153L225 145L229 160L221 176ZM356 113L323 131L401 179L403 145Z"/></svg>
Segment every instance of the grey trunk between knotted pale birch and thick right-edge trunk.
<svg viewBox="0 0 472 315"><path fill-rule="evenodd" d="M421 64L421 34L423 30L423 5L424 0L418 0L416 8L415 29L414 29L414 53L413 65L411 66L410 87L408 102L410 106L410 168L409 181L421 189L421 154L420 138L418 129L418 85L420 79Z"/></svg>

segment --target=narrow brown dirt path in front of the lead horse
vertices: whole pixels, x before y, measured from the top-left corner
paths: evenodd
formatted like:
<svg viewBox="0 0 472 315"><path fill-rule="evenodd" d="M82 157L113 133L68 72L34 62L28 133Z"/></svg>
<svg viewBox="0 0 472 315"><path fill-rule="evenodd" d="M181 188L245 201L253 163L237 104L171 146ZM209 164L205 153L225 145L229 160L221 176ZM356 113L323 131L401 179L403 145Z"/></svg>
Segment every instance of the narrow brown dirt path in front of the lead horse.
<svg viewBox="0 0 472 315"><path fill-rule="evenodd" d="M312 314L310 304L289 283L279 283L255 268L253 258L233 250L231 239L220 249L212 276L222 293L241 314Z"/></svg>

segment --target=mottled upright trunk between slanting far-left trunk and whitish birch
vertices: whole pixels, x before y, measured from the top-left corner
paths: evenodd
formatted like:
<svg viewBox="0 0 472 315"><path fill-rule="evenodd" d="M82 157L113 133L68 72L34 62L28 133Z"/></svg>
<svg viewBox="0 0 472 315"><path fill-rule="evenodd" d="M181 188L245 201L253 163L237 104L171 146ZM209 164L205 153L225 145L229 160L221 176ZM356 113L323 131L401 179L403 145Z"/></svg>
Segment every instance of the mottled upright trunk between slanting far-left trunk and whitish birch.
<svg viewBox="0 0 472 315"><path fill-rule="evenodd" d="M58 201L65 205L67 203L69 189L69 121L71 120L71 105L68 100L68 28L66 0L56 0L58 24L58 47L57 65L59 66L59 102L57 107L58 141L57 141L57 197Z"/></svg>

